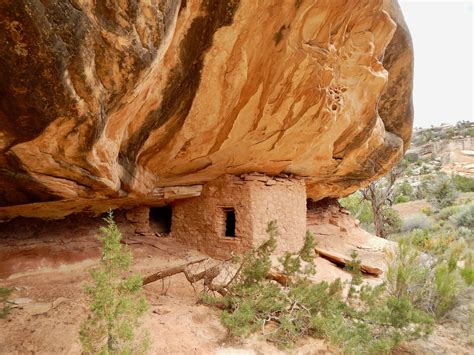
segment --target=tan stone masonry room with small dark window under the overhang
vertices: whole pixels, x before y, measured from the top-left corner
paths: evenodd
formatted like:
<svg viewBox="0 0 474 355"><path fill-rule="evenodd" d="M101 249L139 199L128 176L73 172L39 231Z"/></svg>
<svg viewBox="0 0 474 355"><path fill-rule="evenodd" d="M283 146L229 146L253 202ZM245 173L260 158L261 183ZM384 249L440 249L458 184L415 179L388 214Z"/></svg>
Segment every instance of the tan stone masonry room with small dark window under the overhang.
<svg viewBox="0 0 474 355"><path fill-rule="evenodd" d="M235 212L235 236L226 236L226 211ZM173 203L171 236L210 256L227 258L266 239L267 223L280 231L277 254L298 250L306 232L306 188L291 177L225 175L201 196Z"/></svg>

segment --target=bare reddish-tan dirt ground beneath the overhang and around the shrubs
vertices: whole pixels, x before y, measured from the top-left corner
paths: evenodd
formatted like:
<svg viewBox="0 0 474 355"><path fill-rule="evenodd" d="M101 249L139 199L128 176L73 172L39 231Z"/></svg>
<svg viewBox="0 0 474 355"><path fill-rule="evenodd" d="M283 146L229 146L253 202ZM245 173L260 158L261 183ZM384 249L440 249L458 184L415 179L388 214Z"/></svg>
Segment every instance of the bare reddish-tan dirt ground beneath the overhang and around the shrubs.
<svg viewBox="0 0 474 355"><path fill-rule="evenodd" d="M78 334L88 311L83 286L90 280L88 270L98 263L96 231L101 221L77 218L38 224L20 220L0 225L0 285L13 287L15 291L10 299L19 304L8 319L0 319L0 354L81 353ZM334 239L336 244L327 244L328 248L345 247L346 242L341 244L340 236L353 235L347 217L342 223L332 215L321 215L317 225L313 225L314 215L312 218L308 228L318 228L325 235L321 242L330 241L324 233L339 234ZM149 275L205 257L172 238L129 233L127 225L120 224L120 216L117 220L135 256L133 273ZM359 239L358 244L363 242ZM326 259L317 258L316 265L319 279L349 278ZM277 349L258 335L245 340L232 339L220 323L219 311L198 304L196 292L200 288L201 285L196 285L195 291L183 275L144 286L150 308L142 329L150 336L150 354L337 353L317 339L304 339L287 351ZM466 297L471 297L472 303L472 293ZM463 302L466 304L469 302ZM469 354L472 348L467 346L468 312L464 309L458 313L438 327L429 339L401 347L397 353Z"/></svg>

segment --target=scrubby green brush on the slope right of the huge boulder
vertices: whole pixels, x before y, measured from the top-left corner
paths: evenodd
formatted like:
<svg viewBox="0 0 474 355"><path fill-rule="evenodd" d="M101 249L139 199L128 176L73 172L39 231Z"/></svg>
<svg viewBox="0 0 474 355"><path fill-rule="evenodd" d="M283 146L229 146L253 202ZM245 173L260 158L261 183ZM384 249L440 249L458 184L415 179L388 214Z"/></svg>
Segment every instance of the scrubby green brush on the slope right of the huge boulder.
<svg viewBox="0 0 474 355"><path fill-rule="evenodd" d="M466 122L451 128L449 132L437 128L421 131L415 134L412 146L469 137L472 129ZM447 174L442 167L434 153L420 157L409 152L396 167L395 181L391 172L339 201L363 228L382 230L379 236L398 243L399 252L388 261L389 292L405 295L410 304L432 317L435 327L450 319L461 328L471 319L467 323L472 330L472 299L466 295L472 294L474 275L474 178ZM374 201L383 206L382 212L390 211L395 217L377 217ZM458 311L453 313L453 309Z"/></svg>

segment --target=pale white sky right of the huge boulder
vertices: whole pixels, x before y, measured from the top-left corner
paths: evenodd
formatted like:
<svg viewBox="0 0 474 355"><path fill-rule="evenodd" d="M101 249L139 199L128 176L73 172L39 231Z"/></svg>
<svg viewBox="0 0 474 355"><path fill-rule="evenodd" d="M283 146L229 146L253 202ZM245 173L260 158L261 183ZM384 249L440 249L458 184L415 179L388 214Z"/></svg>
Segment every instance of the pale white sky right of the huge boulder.
<svg viewBox="0 0 474 355"><path fill-rule="evenodd" d="M474 121L474 0L399 0L415 52L415 127Z"/></svg>

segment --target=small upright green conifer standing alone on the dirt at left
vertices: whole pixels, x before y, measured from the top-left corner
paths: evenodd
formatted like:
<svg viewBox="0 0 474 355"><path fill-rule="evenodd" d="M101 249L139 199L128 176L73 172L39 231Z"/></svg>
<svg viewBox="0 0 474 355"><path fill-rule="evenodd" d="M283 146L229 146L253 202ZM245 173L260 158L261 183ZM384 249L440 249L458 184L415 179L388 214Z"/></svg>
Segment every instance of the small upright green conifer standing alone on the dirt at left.
<svg viewBox="0 0 474 355"><path fill-rule="evenodd" d="M122 278L130 270L133 257L120 244L122 236L111 212L105 222L99 236L100 266L91 271L93 284L86 286L90 313L80 330L81 343L86 353L144 353L147 339L135 339L135 328L147 309L145 299L138 294L142 279Z"/></svg>

